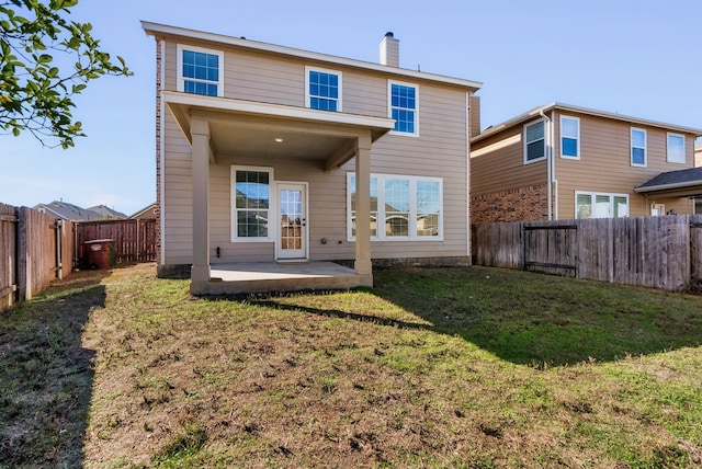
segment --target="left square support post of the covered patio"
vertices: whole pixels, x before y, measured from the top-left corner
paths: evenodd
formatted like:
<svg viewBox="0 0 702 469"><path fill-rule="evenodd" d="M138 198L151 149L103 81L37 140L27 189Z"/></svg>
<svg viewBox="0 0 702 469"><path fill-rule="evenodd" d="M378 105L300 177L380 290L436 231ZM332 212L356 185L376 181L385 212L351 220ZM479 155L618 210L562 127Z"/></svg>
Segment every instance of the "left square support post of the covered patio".
<svg viewBox="0 0 702 469"><path fill-rule="evenodd" d="M207 201L210 124L207 121L193 118L190 125L190 135L192 136L193 178L193 267L191 281L193 283L210 282L210 210Z"/></svg>

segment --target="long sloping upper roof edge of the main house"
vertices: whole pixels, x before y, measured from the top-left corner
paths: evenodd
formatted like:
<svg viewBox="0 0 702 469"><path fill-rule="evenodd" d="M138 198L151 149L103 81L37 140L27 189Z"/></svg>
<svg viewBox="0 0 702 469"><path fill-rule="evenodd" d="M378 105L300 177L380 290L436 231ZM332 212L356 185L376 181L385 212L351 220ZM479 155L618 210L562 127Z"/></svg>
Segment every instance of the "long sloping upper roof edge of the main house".
<svg viewBox="0 0 702 469"><path fill-rule="evenodd" d="M433 81L443 84L453 84L457 87L468 88L473 92L483 88L483 83L479 81L465 80L462 78L446 77L443 75L428 73L423 71L415 71L406 68L390 67L381 64L373 64L364 60L350 59L344 57L332 56L328 54L314 53L309 50L297 49L294 47L279 46L275 44L261 43L258 41L245 39L241 37L226 36L224 34L206 33L203 31L190 30L179 26L169 26L167 24L152 23L148 21L141 21L141 28L147 35L158 36L180 36L189 39L205 41L210 43L219 43L227 46L241 47L247 49L267 52L272 54L285 55L291 57L303 58L307 60L324 61L331 65L340 65L353 68L360 68L364 70L380 71L395 77L403 77L405 79Z"/></svg>

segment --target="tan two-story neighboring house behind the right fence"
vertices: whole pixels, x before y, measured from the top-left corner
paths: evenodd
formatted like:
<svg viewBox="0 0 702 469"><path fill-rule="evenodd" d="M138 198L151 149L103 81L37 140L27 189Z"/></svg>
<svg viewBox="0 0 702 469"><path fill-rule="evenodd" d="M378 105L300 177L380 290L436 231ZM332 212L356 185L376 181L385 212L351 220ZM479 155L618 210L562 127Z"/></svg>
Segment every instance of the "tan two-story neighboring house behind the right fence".
<svg viewBox="0 0 702 469"><path fill-rule="evenodd" d="M471 140L472 222L690 214L702 181L677 171L693 168L700 135L568 104L536 107ZM657 183L661 173L684 187Z"/></svg>

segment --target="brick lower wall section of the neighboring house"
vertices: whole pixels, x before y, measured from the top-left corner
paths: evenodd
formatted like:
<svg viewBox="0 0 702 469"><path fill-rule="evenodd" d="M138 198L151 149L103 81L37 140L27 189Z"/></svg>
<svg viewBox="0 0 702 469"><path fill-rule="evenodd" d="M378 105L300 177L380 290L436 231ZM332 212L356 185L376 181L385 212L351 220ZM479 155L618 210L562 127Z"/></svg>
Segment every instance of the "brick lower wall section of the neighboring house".
<svg viewBox="0 0 702 469"><path fill-rule="evenodd" d="M474 195L471 197L471 224L545 220L547 201L546 184Z"/></svg>

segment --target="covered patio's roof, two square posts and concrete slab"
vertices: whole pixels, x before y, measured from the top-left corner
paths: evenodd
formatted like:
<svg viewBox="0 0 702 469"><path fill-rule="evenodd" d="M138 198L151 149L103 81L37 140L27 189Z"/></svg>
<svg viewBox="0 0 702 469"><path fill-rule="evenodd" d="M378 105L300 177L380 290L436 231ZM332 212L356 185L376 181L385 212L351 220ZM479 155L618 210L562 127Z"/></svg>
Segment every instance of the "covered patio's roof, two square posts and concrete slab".
<svg viewBox="0 0 702 469"><path fill-rule="evenodd" d="M163 100L192 149L191 293L224 295L373 285L371 146L394 127L393 119L180 92L163 92ZM285 145L273 144L283 140ZM310 255L296 260L296 265L279 263L284 260L278 254L262 260L260 265L211 263L211 164L216 164L219 156L236 159L252 155L261 161L314 160L326 172L355 159L358 216L352 270L330 262L310 262Z"/></svg>

